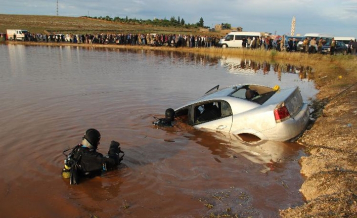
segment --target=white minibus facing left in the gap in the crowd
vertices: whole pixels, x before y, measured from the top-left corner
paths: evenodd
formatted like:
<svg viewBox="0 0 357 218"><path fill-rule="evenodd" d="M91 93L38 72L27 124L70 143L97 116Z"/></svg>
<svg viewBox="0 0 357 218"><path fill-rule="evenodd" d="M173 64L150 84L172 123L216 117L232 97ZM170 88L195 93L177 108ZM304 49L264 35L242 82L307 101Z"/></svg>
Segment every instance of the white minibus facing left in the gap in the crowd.
<svg viewBox="0 0 357 218"><path fill-rule="evenodd" d="M222 48L241 48L243 38L253 39L253 37L260 37L260 32L230 32L218 42L218 46Z"/></svg>

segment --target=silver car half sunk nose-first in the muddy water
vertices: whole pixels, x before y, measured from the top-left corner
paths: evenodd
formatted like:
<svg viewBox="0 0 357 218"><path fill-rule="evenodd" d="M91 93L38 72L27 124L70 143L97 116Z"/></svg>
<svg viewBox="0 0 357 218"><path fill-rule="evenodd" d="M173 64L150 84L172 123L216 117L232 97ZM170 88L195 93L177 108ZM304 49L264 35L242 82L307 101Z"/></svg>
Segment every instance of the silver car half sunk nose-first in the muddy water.
<svg viewBox="0 0 357 218"><path fill-rule="evenodd" d="M297 86L239 84L219 89L217 85L175 112L197 128L282 142L298 137L309 120L308 105Z"/></svg>

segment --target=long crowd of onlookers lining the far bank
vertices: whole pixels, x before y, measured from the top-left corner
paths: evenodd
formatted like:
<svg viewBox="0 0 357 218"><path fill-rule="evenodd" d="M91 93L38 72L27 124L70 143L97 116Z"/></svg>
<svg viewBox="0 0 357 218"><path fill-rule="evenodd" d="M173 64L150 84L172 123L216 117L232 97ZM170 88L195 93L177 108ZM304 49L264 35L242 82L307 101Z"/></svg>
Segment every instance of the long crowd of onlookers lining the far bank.
<svg viewBox="0 0 357 218"><path fill-rule="evenodd" d="M5 33L0 33L0 37L7 38ZM15 36L13 37L15 38ZM141 33L119 33L119 34L41 34L26 33L25 41L35 42L69 42L104 45L130 45L130 46L170 46L189 48L209 48L218 47L220 37L212 35L187 35L187 34L141 34ZM302 40L302 43L298 42ZM249 49L265 49L287 52L322 53L322 47L327 41L323 38L306 37L283 38L273 36L248 37L243 38L242 47ZM299 45L299 46L298 46ZM336 42L333 39L330 46L330 54L333 54ZM357 54L356 40L350 40L347 46L347 54Z"/></svg>

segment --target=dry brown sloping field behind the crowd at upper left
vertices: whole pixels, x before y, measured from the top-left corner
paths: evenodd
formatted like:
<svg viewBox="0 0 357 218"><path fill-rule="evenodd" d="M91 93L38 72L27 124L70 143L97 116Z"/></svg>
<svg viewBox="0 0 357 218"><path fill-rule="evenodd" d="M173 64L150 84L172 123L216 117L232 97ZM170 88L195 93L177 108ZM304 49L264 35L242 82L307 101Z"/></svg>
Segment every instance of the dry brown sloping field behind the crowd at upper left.
<svg viewBox="0 0 357 218"><path fill-rule="evenodd" d="M0 14L0 32L27 29L31 33L181 33L202 34L198 29L125 24L85 17ZM207 32L208 34L209 32ZM218 32L210 34L220 34Z"/></svg>

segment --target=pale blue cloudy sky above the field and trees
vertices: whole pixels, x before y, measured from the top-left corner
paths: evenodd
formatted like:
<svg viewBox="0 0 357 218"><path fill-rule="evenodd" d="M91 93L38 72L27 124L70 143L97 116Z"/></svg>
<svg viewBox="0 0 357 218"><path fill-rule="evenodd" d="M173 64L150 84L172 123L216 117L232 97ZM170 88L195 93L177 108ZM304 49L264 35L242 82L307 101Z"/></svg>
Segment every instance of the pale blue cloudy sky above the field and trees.
<svg viewBox="0 0 357 218"><path fill-rule="evenodd" d="M243 31L325 33L357 38L357 0L0 0L0 14L184 19L204 25L229 23ZM1 22L1 21L0 21Z"/></svg>

